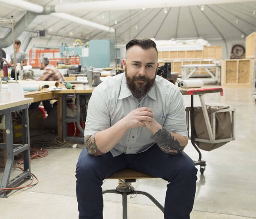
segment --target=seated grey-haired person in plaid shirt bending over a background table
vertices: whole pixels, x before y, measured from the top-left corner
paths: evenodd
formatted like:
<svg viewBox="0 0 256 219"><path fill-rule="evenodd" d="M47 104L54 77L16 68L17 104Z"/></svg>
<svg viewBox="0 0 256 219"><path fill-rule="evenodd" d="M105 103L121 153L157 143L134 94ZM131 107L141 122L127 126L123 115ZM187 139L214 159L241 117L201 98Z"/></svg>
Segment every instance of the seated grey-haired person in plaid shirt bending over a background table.
<svg viewBox="0 0 256 219"><path fill-rule="evenodd" d="M49 59L47 57L41 57L39 60L39 69L44 70L44 73L39 77L39 81L65 81L64 76L55 68L53 65L49 64ZM32 80L32 79L27 79ZM29 110L38 109L41 101L32 103L29 106ZM50 100L42 101L44 108L49 115L53 107L51 106Z"/></svg>

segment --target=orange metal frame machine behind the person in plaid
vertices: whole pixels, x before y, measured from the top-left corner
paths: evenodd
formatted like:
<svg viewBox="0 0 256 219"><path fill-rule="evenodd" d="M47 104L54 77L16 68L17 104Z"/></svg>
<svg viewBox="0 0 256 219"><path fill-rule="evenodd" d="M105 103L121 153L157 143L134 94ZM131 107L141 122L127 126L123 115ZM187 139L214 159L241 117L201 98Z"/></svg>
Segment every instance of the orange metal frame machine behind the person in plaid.
<svg viewBox="0 0 256 219"><path fill-rule="evenodd" d="M41 58L41 56L48 57L50 60L50 64L54 65L54 66L57 66L58 62L64 62L65 65L80 64L79 56L66 56L65 58L60 57L59 49L36 49L36 50L30 49L29 50L29 64L32 67L39 67L39 59Z"/></svg>

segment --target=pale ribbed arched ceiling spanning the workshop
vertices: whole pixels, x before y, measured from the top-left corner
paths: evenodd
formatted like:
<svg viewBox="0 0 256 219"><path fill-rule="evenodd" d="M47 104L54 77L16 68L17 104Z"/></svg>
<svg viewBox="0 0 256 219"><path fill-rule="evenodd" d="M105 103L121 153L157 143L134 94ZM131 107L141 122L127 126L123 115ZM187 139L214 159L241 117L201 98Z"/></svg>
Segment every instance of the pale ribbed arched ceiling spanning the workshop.
<svg viewBox="0 0 256 219"><path fill-rule="evenodd" d="M46 0L44 5L41 0L29 2L45 6L59 4L59 1ZM68 0L62 1L70 3ZM18 20L26 13L25 10L1 3L0 8L0 19L10 19L13 15L14 19ZM84 12L70 14L115 28L118 42L136 37L156 40L199 37L205 40L244 38L256 30L256 1L204 5L204 10L201 10L201 6L94 12L86 11L85 8ZM0 27L0 38L5 36L9 28L8 25ZM52 15L38 15L27 25L26 31L35 32L44 29L48 30L51 38L62 36L83 40L115 38L114 33L78 25Z"/></svg>

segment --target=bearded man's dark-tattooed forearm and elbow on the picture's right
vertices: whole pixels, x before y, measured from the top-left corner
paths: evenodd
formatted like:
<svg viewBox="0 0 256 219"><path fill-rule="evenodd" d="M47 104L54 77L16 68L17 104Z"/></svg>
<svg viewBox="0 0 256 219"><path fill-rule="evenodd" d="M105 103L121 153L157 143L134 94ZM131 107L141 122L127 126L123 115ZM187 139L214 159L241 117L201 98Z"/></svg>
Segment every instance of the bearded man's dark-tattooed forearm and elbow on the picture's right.
<svg viewBox="0 0 256 219"><path fill-rule="evenodd" d="M164 127L155 132L154 139L162 151L172 155L181 154L188 143L187 137L170 132Z"/></svg>

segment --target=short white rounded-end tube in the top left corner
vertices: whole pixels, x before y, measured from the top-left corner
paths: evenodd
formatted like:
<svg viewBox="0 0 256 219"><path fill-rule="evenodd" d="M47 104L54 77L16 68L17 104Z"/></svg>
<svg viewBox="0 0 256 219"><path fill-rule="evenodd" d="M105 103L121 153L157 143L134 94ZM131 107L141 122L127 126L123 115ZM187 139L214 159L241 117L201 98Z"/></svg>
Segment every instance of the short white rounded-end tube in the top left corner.
<svg viewBox="0 0 256 219"><path fill-rule="evenodd" d="M42 13L44 7L38 4L33 4L23 0L0 0L0 3L19 9L29 10L31 12Z"/></svg>

